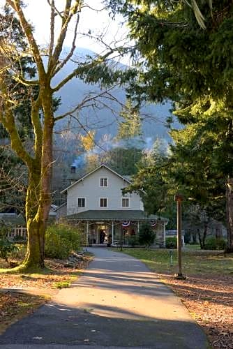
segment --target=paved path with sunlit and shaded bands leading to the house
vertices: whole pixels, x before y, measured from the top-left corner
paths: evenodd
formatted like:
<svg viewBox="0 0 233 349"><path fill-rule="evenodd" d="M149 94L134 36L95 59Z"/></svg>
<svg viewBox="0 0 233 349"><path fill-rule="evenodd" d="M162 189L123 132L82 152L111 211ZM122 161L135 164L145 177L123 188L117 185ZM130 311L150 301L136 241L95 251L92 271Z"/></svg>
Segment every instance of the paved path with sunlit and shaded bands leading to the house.
<svg viewBox="0 0 233 349"><path fill-rule="evenodd" d="M12 325L0 348L208 348L178 297L140 261L107 248L71 288Z"/></svg>

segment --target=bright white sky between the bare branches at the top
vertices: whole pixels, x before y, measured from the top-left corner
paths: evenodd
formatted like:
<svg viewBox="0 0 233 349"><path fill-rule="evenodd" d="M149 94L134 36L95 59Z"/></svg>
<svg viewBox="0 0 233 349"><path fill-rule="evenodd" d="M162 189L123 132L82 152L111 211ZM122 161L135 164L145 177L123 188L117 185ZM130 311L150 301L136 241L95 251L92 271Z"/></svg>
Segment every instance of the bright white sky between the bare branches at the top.
<svg viewBox="0 0 233 349"><path fill-rule="evenodd" d="M64 0L55 0L57 8L59 10L63 8ZM125 26L121 26L122 18L117 17L117 20L113 21L107 10L103 9L103 3L101 0L86 0L84 1L93 10L88 7L82 9L80 15L80 26L79 31L87 33L89 30L91 34L101 34L105 32L104 40L107 44L111 44L113 38L117 40L126 36L127 29ZM5 1L0 0L0 4L3 5ZM24 13L27 19L31 21L35 29L36 40L40 45L47 45L50 38L50 6L47 0L24 0L27 4L27 8L24 9ZM59 7L60 6L60 7ZM94 10L96 9L96 10ZM57 16L58 18L58 16ZM70 46L73 40L73 28L74 25L70 26L68 34L66 36L65 45ZM59 29L59 26L57 27ZM58 31L58 30L57 30ZM77 47L84 47L97 53L103 52L104 46L100 43L95 42L82 35L77 36L76 40Z"/></svg>

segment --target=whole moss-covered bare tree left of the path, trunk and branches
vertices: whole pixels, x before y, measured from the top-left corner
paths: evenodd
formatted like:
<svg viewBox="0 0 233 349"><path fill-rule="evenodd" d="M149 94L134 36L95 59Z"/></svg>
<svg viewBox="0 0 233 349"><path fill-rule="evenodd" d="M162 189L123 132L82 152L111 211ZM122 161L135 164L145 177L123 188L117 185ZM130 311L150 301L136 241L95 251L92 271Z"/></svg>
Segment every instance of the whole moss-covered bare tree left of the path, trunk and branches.
<svg viewBox="0 0 233 349"><path fill-rule="evenodd" d="M75 40L77 38L77 25L80 20L80 12L83 6L82 0L68 0L57 1L63 3L63 10L58 10L54 0L47 1L50 6L50 42L47 47L40 50L40 46L36 43L36 38L33 33L33 27L27 16L24 14L24 6L19 0L6 0L6 4L15 12L20 22L22 33L27 39L27 50L15 50L16 61L19 61L20 53L22 57L27 54L31 57L33 65L36 68L36 78L29 79L27 75L22 75L22 69L12 68L12 50L13 45L9 47L8 38L4 40L1 38L0 43L0 122L8 131L11 140L11 147L24 161L28 169L29 185L27 190L26 200L26 220L28 233L27 255L20 269L35 269L44 267L44 251L45 251L45 230L47 225L47 218L50 212L50 198L51 198L51 177L52 177L52 135L54 128L54 121L58 121L66 117L68 114L61 114L54 118L54 103L52 100L53 94L57 93L65 84L67 84L73 77L78 75L89 75L89 69L94 66L101 66L100 57L93 59L91 64L87 62L87 67L84 68L82 64L77 64L77 68L68 73L63 80L59 80L57 85L52 85L52 79L63 69L68 61L73 57L75 52ZM57 19L57 24L56 24ZM75 29L72 40L72 47L68 54L63 54L63 45L66 39L66 34L69 25L75 23ZM60 28L60 29L59 29ZM55 30L56 29L56 30ZM56 32L55 32L56 31ZM3 47L3 50L1 50ZM108 55L112 54L110 50L103 55L103 61L107 60ZM47 56L46 64L44 64L43 57ZM102 62L103 63L103 62ZM103 66L103 72L105 72ZM92 71L92 70L90 70ZM27 99L30 101L30 121L33 128L33 149L28 149L27 144L20 137L19 128L17 127L17 112L14 108L20 105L20 98L16 100L14 89L11 91L8 88L7 76L14 75L16 83L27 86ZM103 80L103 74L98 73L98 79ZM91 73L91 79L96 83L96 75ZM107 77L107 75L106 75ZM112 79L112 75L111 75ZM119 77L117 77L117 80ZM109 77L107 77L109 81ZM100 93L102 98L103 92ZM107 93L108 96L108 93ZM93 98L84 98L73 112L80 110L85 104L89 105ZM94 105L94 103L93 103Z"/></svg>

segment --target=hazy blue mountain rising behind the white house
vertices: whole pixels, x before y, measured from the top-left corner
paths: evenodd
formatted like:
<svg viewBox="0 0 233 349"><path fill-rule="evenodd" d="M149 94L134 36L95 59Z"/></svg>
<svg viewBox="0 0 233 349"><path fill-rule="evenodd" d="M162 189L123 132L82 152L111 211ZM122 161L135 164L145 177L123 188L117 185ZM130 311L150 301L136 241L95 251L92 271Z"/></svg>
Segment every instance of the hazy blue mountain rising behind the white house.
<svg viewBox="0 0 233 349"><path fill-rule="evenodd" d="M94 55L93 52L85 49L77 50L77 54L82 57L85 57L85 55ZM54 78L53 84L56 85L60 80L73 71L74 68L75 63L69 61L57 77ZM58 96L61 96L61 106L59 107L57 114L64 114L72 110L77 103L82 101L84 96L87 96L90 93L93 94L94 92L99 93L100 91L101 89L97 85L85 84L82 80L74 78L68 82L61 91L59 91ZM123 89L114 89L112 94L118 101L125 103L126 96ZM117 134L117 120L119 118L119 112L121 111L121 105L116 101L107 101L104 99L102 101L104 104L109 105L109 107L100 107L100 105L98 105L100 109L94 110L93 107L90 106L84 108L78 114L80 123L85 127L85 129L96 130L97 141L105 134L110 134L112 136ZM147 105L142 108L142 114L146 114L142 124L145 140L151 139L152 141L156 138L164 138L167 141L170 140L167 128L165 127L165 120L167 116L170 115L169 109L170 103L165 103L164 105ZM74 114L77 115L77 113ZM74 127L74 130L80 130L80 125L74 121L70 122L70 118L59 121L55 129L56 131L61 131L70 126Z"/></svg>

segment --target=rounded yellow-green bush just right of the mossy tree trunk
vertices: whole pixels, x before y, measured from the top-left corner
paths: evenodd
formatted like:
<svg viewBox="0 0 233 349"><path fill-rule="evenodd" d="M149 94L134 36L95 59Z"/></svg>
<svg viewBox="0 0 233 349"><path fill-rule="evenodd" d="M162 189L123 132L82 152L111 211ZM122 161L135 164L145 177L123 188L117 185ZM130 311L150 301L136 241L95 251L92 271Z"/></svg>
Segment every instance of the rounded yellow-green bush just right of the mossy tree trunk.
<svg viewBox="0 0 233 349"><path fill-rule="evenodd" d="M68 258L81 248L81 233L68 224L50 225L45 232L45 257Z"/></svg>

